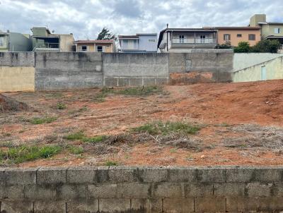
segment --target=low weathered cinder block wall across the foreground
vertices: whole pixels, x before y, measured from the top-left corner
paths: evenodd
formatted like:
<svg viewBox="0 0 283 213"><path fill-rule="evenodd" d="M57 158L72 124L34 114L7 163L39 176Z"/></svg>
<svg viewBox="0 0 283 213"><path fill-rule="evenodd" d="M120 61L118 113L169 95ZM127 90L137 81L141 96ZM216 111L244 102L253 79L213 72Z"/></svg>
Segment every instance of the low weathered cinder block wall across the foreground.
<svg viewBox="0 0 283 213"><path fill-rule="evenodd" d="M0 170L1 212L277 212L283 167Z"/></svg>

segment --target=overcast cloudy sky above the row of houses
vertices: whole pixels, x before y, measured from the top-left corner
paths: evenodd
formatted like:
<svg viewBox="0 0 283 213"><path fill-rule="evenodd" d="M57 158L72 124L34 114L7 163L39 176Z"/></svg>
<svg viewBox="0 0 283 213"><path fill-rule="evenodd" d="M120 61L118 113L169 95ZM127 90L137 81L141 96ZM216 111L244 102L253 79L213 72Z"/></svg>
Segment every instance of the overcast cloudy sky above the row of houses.
<svg viewBox="0 0 283 213"><path fill-rule="evenodd" d="M171 28L246 26L254 13L283 21L282 0L0 0L0 30L30 33L33 26L75 39L96 39L107 27L115 34Z"/></svg>

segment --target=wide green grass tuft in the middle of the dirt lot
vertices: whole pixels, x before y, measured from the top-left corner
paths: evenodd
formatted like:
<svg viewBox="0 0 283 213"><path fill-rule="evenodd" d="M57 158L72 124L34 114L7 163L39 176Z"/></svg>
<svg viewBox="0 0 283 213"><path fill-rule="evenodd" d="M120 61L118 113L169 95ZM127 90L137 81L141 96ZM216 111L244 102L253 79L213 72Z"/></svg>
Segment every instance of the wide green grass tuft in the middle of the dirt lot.
<svg viewBox="0 0 283 213"><path fill-rule="evenodd" d="M132 128L134 133L149 133L150 135L169 135L171 133L182 133L185 135L195 134L200 130L200 126L195 126L190 123L157 121L146 123L142 126Z"/></svg>

